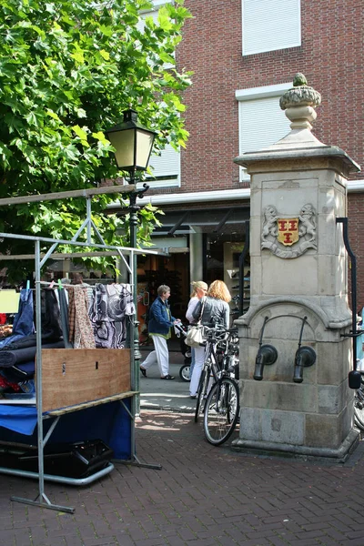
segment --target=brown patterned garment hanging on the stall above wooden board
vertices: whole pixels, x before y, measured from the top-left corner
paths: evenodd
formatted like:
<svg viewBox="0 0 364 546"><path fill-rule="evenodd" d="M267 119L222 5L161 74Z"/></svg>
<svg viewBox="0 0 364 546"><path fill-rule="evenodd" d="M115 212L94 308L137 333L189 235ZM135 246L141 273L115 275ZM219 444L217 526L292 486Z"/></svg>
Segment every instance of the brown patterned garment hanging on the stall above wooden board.
<svg viewBox="0 0 364 546"><path fill-rule="evenodd" d="M69 340L75 349L96 349L94 330L88 316L88 298L82 285L67 285Z"/></svg>

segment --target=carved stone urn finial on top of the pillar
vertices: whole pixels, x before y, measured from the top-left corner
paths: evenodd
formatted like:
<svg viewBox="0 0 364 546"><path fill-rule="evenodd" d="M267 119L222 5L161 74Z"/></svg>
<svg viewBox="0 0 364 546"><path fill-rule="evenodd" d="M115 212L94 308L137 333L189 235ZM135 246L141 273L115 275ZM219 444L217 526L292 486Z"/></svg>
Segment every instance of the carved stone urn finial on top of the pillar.
<svg viewBox="0 0 364 546"><path fill-rule="evenodd" d="M291 121L291 129L312 129L310 122L315 121L315 108L321 104L321 96L313 87L308 86L306 76L297 73L293 78L293 87L279 99L279 106Z"/></svg>

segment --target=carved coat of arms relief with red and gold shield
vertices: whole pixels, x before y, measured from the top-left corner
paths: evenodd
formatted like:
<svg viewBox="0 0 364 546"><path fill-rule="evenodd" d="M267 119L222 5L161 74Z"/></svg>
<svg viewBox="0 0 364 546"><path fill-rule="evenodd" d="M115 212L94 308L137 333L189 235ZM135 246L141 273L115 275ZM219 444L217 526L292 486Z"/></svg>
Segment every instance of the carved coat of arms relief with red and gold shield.
<svg viewBox="0 0 364 546"><path fill-rule="evenodd" d="M308 248L318 248L317 214L307 203L297 217L281 217L277 208L268 205L263 210L261 248L268 248L278 258L298 258Z"/></svg>

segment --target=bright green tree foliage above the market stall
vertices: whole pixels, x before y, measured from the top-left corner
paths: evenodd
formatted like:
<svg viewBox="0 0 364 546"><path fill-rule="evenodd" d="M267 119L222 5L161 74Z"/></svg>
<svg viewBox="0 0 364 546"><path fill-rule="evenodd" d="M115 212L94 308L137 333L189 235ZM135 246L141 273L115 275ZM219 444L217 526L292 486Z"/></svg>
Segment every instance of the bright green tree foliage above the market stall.
<svg viewBox="0 0 364 546"><path fill-rule="evenodd" d="M103 131L128 106L157 131L157 150L167 142L185 145L181 92L190 74L177 72L174 52L190 14L175 0L141 28L140 13L150 7L147 0L2 0L0 198L120 177ZM108 244L126 246L118 234L126 233L127 217L105 214L117 197L95 197L93 220ZM140 212L143 242L157 222L154 212ZM84 198L1 207L0 232L68 239L85 217ZM9 246L13 254L29 251L28 244L6 238L0 252Z"/></svg>

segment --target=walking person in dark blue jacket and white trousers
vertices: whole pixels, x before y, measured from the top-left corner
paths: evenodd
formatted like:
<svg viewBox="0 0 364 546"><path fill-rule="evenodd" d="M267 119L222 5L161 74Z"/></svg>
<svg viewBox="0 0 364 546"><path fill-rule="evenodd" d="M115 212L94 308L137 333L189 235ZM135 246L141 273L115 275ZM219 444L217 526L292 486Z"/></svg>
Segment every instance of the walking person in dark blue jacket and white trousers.
<svg viewBox="0 0 364 546"><path fill-rule="evenodd" d="M140 365L140 371L145 378L147 377L147 369L157 362L160 379L175 379L169 373L167 339L171 336L171 327L181 320L172 317L168 305L169 296L170 288L167 285L158 287L157 299L154 300L149 310L148 332L153 339L155 350L152 350Z"/></svg>

